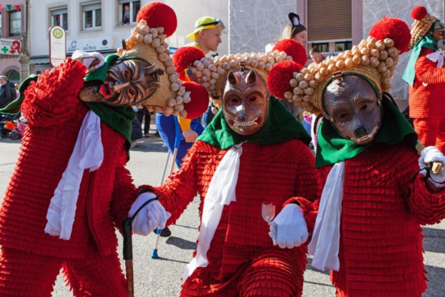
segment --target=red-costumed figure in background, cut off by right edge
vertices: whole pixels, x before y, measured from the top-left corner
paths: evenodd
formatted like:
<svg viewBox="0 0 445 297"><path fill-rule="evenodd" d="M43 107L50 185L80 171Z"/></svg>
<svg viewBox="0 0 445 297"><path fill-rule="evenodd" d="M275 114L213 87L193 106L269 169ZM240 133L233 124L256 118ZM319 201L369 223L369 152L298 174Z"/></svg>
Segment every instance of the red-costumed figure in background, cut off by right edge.
<svg viewBox="0 0 445 297"><path fill-rule="evenodd" d="M412 54L403 79L410 85L410 117L419 141L445 152L445 24L426 8L412 10Z"/></svg>

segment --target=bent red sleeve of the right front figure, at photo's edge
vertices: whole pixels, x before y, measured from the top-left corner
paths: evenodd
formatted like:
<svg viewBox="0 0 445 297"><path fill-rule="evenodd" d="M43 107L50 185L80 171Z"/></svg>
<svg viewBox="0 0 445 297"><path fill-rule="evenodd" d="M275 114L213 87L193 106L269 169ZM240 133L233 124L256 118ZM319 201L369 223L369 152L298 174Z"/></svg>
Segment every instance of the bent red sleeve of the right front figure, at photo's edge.
<svg viewBox="0 0 445 297"><path fill-rule="evenodd" d="M428 190L426 177L416 174L420 170L417 161L419 155L414 150L401 157L406 169L401 171L398 186L411 214L421 225L439 223L445 218L445 190L439 193L431 193Z"/></svg>

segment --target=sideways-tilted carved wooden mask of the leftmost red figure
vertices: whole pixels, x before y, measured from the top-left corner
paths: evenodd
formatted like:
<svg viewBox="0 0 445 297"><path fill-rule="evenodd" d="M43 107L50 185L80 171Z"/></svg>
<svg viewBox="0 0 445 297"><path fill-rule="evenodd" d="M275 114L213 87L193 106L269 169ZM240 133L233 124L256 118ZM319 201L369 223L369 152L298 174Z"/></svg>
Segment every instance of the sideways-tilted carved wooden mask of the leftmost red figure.
<svg viewBox="0 0 445 297"><path fill-rule="evenodd" d="M80 97L86 102L102 102L112 106L131 105L147 99L160 87L163 70L140 59L120 60L108 68L105 83L87 86Z"/></svg>

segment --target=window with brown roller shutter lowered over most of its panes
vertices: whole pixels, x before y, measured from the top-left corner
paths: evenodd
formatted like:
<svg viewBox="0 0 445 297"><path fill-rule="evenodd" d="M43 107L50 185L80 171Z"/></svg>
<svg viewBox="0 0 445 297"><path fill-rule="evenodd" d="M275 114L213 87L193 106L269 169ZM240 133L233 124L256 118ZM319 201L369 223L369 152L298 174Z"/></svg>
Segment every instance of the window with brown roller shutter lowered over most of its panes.
<svg viewBox="0 0 445 297"><path fill-rule="evenodd" d="M352 47L353 0L308 0L307 31L309 49L338 54ZM326 11L330 13L327 14Z"/></svg>

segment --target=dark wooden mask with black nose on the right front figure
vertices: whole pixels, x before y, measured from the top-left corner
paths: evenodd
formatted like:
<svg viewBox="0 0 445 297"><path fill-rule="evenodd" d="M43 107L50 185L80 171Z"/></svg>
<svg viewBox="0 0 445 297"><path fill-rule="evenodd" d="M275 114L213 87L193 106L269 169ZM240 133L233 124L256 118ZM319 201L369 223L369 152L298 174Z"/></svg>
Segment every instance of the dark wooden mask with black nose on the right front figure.
<svg viewBox="0 0 445 297"><path fill-rule="evenodd" d="M325 117L345 138L366 145L373 141L382 123L380 98L362 77L344 76L327 86Z"/></svg>

